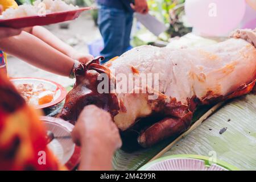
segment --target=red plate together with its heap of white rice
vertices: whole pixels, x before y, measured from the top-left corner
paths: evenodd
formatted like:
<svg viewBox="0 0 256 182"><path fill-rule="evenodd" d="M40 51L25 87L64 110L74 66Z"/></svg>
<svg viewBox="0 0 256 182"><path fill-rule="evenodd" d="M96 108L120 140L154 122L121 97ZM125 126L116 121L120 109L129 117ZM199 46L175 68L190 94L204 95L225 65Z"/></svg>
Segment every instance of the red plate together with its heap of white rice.
<svg viewBox="0 0 256 182"><path fill-rule="evenodd" d="M20 5L18 9L9 8L0 17L1 27L25 28L44 26L76 19L91 7L78 7L62 0L37 0L33 5Z"/></svg>

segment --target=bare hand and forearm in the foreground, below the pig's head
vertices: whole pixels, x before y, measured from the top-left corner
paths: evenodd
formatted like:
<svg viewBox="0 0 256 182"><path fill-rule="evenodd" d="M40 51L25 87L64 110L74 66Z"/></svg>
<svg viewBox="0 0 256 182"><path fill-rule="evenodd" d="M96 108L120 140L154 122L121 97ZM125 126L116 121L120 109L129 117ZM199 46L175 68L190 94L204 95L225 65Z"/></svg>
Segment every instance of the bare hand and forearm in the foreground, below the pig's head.
<svg viewBox="0 0 256 182"><path fill-rule="evenodd" d="M72 132L81 146L80 170L111 170L115 150L122 142L110 114L94 105L82 110Z"/></svg>

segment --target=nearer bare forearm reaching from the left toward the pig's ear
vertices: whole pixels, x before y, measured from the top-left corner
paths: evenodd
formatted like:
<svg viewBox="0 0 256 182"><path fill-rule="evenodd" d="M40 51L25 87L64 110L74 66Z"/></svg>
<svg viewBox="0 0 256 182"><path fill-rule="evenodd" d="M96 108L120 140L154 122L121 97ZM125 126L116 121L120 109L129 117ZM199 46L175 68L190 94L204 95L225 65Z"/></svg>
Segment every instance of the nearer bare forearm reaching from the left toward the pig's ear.
<svg viewBox="0 0 256 182"><path fill-rule="evenodd" d="M69 76L74 64L70 57L24 31L18 36L1 39L0 49L58 75Z"/></svg>

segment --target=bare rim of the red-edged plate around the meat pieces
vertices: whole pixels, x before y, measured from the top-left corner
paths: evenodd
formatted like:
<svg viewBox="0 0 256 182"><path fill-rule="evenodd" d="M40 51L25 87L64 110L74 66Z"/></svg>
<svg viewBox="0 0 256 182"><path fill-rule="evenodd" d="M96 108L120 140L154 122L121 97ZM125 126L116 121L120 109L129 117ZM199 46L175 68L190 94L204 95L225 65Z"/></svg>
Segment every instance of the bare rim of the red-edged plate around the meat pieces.
<svg viewBox="0 0 256 182"><path fill-rule="evenodd" d="M43 84L44 88L46 88L47 90L56 91L56 94L55 94L52 102L49 102L49 103L43 104L43 105L34 105L35 109L44 109L47 107L57 105L61 101L63 101L65 99L65 97L67 96L67 91L63 88L63 86L61 86L60 84L57 84L56 82L51 81L51 80L46 80L43 78L11 78L11 81L13 82L14 85Z"/></svg>

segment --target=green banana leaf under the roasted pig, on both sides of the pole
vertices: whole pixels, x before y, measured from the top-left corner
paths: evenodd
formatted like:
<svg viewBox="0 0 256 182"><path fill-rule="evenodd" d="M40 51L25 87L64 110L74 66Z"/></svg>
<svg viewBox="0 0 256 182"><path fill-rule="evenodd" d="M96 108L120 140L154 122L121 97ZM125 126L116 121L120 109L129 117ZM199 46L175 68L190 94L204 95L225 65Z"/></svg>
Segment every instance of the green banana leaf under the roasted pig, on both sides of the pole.
<svg viewBox="0 0 256 182"><path fill-rule="evenodd" d="M67 88L68 91L71 89ZM56 115L62 107L63 103L48 115ZM192 124L212 107L199 107L193 115ZM177 137L168 138L150 148L135 148L133 152L120 149L114 155L113 167L115 170L137 170ZM163 156L176 154L216 155L217 159L240 169L256 169L256 96L249 94L226 102Z"/></svg>

